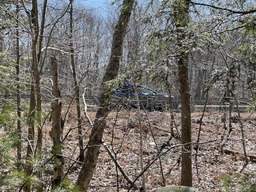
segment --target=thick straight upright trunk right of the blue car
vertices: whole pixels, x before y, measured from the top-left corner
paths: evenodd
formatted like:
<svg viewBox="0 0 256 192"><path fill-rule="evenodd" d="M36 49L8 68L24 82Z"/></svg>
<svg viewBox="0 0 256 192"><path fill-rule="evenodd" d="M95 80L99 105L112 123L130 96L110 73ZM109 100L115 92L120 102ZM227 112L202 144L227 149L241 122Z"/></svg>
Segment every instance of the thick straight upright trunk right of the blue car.
<svg viewBox="0 0 256 192"><path fill-rule="evenodd" d="M178 34L177 41L181 48L178 53L182 119L181 143L186 144L191 142L191 112L188 83L188 53L186 48L182 48L182 40L186 38L185 30L189 22L189 1L175 0L173 5L175 25ZM191 144L182 147L181 158L181 185L192 186Z"/></svg>

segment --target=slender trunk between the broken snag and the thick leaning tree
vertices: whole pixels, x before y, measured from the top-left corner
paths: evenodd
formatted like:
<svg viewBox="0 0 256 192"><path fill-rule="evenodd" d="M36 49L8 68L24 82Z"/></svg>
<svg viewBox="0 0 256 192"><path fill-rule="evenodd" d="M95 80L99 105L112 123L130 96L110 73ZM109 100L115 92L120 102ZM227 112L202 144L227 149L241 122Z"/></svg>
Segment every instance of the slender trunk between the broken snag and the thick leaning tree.
<svg viewBox="0 0 256 192"><path fill-rule="evenodd" d="M73 0L70 0L70 62L73 72L73 80L75 85L75 99L76 99L76 111L77 111L77 126L78 126L78 139L79 139L79 149L80 149L80 156L79 161L84 161L84 151L83 151L83 140L82 140L82 120L81 120L81 107L80 107L80 88L77 81L76 76L76 68L75 68L75 58L74 58L74 45L73 45Z"/></svg>

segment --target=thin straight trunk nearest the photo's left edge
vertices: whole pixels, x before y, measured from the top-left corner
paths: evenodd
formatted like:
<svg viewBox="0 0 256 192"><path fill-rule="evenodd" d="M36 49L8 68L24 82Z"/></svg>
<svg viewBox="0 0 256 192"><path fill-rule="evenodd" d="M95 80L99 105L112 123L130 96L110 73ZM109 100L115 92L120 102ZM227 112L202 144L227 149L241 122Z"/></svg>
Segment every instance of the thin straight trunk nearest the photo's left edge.
<svg viewBox="0 0 256 192"><path fill-rule="evenodd" d="M20 161L22 160L22 129L21 129L21 122L20 118L22 116L22 109L21 109L21 99L20 99L20 55L19 55L19 6L18 0L16 2L16 94L17 94L17 136L18 136L18 143L17 143L17 168L20 169Z"/></svg>

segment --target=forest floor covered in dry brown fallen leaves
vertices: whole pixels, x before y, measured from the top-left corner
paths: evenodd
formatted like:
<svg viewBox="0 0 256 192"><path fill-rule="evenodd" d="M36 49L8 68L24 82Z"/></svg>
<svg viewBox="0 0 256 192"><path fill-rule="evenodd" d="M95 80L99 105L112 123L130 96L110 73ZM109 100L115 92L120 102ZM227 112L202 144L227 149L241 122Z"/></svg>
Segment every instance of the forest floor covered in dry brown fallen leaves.
<svg viewBox="0 0 256 192"><path fill-rule="evenodd" d="M166 143L170 138L170 113L167 112L141 112L141 123L143 130L143 160L144 166L152 162L157 156L157 150L154 146L154 139L161 148L161 144ZM199 130L199 119L202 113L192 114L192 141L196 142ZM237 121L237 114L232 113L232 131L228 134L229 129L224 129L223 113L208 112L205 113L202 124L200 142L207 142L200 145L197 162L195 144L192 145L192 162L193 162L193 186L197 191L222 191L223 179L225 176L231 177L236 173L239 177L246 173L256 173L256 114L242 113L242 122L244 126L245 145L247 155L251 156L251 161L244 166L243 146L241 140L241 128ZM93 120L95 112L89 112ZM228 113L227 113L228 116ZM64 132L70 127L76 126L75 109L70 112L70 120L66 123ZM111 152L117 153L118 162L121 164L125 173L134 180L140 173L139 164L139 143L140 131L138 126L138 112L135 110L113 111L107 119L103 139L108 144ZM161 156L161 163L166 185L179 185L181 173L181 147L178 132L181 135L181 115L175 114L175 138L172 138L169 145L162 147L161 152L169 151ZM228 127L228 118L226 119ZM84 143L86 144L90 136L89 124L83 126ZM177 132L178 131L178 132ZM65 135L65 133L63 134ZM73 130L64 143L63 155L71 157L77 146L77 131ZM224 138L221 140L221 138ZM209 142L208 142L209 141ZM221 147L222 145L222 147ZM170 147L173 147L170 149ZM79 147L76 148L74 157L79 154ZM67 159L67 161L69 161ZM65 163L69 165L70 163ZM67 167L66 167L67 169ZM68 174L68 178L76 181L80 167L75 165ZM226 177L226 178L227 178ZM146 187L145 191L163 186L159 160L155 161L145 172ZM230 183L231 181L227 181ZM255 182L254 180L250 182ZM118 172L119 191L127 191L130 184ZM141 179L135 182L140 187ZM239 184L239 183L237 183ZM240 182L241 184L241 182ZM238 189L238 186L234 186ZM89 191L117 191L117 177L115 163L103 147L100 149L99 159L95 173L90 183ZM131 191L139 191L134 188Z"/></svg>

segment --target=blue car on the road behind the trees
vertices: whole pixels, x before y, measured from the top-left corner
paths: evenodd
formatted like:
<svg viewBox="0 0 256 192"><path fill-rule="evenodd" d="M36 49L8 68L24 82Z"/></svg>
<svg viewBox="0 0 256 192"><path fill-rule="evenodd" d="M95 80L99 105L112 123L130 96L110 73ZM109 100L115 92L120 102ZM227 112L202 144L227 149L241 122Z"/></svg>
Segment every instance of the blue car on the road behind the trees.
<svg viewBox="0 0 256 192"><path fill-rule="evenodd" d="M117 103L125 106L131 106L137 108L136 90L138 93L138 99L140 106L144 109L151 111L164 111L169 105L169 96L166 94L158 93L150 88L141 86L140 84L128 84L124 83L119 88L114 88L112 92L111 104ZM172 96L172 98L174 98Z"/></svg>

